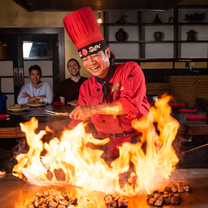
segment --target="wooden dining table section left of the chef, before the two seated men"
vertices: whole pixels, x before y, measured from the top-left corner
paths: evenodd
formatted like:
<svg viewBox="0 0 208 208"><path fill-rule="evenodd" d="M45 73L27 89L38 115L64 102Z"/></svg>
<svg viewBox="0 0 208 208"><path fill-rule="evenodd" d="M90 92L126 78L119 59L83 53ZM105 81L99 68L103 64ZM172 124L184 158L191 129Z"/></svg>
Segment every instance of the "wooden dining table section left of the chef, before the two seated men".
<svg viewBox="0 0 208 208"><path fill-rule="evenodd" d="M35 117L38 120L36 132L45 130L46 126L53 130L64 130L71 121L66 115L47 114L45 110L70 113L75 107L71 105L54 106L40 105L21 110L8 110L8 118L0 118L0 139L24 137L25 133L21 131L20 123L25 123Z"/></svg>

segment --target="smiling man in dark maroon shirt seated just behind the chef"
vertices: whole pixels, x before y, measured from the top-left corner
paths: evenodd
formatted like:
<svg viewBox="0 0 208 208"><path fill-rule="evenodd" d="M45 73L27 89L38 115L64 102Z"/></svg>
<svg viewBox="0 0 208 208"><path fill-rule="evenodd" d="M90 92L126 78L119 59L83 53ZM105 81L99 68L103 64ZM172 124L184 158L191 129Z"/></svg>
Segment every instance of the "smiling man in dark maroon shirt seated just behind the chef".
<svg viewBox="0 0 208 208"><path fill-rule="evenodd" d="M79 88L87 80L86 77L80 76L80 64L76 59L70 59L67 63L67 69L71 77L62 81L59 85L58 96L61 103L78 100Z"/></svg>

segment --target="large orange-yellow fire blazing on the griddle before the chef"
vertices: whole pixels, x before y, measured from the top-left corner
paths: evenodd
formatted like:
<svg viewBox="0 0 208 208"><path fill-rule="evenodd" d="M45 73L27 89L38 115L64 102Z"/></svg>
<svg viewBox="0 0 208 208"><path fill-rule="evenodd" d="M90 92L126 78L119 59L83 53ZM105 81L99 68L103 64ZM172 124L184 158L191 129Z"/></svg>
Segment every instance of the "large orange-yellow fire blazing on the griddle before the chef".
<svg viewBox="0 0 208 208"><path fill-rule="evenodd" d="M73 130L63 131L61 138L53 138L49 143L43 143L42 138L52 130L46 128L36 134L38 121L35 118L21 123L29 151L17 156L18 164L13 168L13 174L23 178L22 172L29 169L31 174L35 172L29 182L40 186L70 184L88 192L101 191L124 196L149 193L158 188L161 181L169 178L178 163L172 142L179 123L170 115L170 99L169 96L158 99L155 107L151 107L148 118L133 121L133 127L142 131L141 143L125 143L119 148L119 158L110 167L101 158L103 151L88 145L102 146L109 139L93 138L92 134L85 132L84 123ZM38 169L35 165L40 163L47 168ZM121 185L124 174L126 180Z"/></svg>

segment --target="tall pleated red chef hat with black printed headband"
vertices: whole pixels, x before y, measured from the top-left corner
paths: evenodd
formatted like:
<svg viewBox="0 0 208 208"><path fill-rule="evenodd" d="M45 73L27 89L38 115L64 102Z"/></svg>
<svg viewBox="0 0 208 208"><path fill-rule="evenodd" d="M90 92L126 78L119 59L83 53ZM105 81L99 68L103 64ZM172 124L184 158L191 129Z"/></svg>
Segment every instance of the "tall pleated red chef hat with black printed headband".
<svg viewBox="0 0 208 208"><path fill-rule="evenodd" d="M106 49L106 41L90 7L68 14L64 17L63 22L81 58Z"/></svg>

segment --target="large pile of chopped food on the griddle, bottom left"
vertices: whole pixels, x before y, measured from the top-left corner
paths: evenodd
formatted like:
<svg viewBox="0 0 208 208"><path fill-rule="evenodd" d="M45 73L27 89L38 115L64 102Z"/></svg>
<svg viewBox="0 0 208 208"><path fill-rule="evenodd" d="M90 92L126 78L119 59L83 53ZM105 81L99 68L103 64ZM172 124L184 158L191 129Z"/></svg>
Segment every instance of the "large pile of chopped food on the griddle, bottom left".
<svg viewBox="0 0 208 208"><path fill-rule="evenodd" d="M72 208L77 205L77 198L53 189L36 193L32 201L27 202L27 208Z"/></svg>

